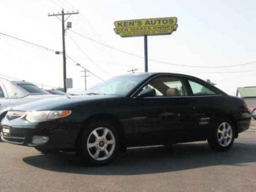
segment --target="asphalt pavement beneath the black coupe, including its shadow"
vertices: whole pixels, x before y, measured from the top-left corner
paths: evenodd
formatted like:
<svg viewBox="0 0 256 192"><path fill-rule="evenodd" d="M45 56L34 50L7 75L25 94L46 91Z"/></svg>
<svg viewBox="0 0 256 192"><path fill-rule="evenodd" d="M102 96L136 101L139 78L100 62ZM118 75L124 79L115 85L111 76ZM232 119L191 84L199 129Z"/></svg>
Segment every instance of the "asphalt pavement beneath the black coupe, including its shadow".
<svg viewBox="0 0 256 192"><path fill-rule="evenodd" d="M228 152L206 142L131 148L102 167L0 142L0 191L256 191L255 122Z"/></svg>

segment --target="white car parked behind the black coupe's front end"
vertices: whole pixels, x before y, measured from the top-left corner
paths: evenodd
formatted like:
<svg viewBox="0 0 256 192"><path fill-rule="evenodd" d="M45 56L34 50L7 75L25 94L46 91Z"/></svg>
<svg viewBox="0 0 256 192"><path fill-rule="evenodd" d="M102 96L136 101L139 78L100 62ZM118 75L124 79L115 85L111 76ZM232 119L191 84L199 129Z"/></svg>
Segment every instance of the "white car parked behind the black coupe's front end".
<svg viewBox="0 0 256 192"><path fill-rule="evenodd" d="M57 96L30 82L0 79L0 122L13 106Z"/></svg>

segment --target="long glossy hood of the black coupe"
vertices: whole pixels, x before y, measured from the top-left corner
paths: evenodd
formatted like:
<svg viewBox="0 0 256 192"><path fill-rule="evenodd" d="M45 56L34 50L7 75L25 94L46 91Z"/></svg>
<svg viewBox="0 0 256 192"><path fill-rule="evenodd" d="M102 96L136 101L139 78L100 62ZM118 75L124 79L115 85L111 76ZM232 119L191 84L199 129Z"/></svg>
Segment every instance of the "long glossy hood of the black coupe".
<svg viewBox="0 0 256 192"><path fill-rule="evenodd" d="M58 96L41 99L30 103L15 106L12 110L18 111L47 111L69 110L84 103L97 102L100 100L116 99L116 95L81 95L81 96Z"/></svg>

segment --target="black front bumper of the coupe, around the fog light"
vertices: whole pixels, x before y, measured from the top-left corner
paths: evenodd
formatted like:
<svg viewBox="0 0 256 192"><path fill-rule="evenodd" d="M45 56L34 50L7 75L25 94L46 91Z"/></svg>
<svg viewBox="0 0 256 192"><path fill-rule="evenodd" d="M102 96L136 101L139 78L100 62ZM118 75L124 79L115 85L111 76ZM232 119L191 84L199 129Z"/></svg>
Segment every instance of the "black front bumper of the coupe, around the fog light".
<svg viewBox="0 0 256 192"><path fill-rule="evenodd" d="M4 136L2 130L6 127L10 129L10 137ZM25 146L39 146L39 144L34 144L34 136L47 136L49 140L44 144L45 147L51 149L70 149L75 148L76 138L78 134L78 129L48 129L36 126L9 126L3 124L1 126L1 138L3 141L25 145Z"/></svg>

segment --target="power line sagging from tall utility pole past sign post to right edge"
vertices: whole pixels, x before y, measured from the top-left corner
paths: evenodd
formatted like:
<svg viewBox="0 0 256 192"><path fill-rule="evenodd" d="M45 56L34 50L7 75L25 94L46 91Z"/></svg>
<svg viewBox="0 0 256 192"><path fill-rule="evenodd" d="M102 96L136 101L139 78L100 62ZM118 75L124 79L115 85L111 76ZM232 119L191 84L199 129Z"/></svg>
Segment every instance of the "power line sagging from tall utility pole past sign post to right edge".
<svg viewBox="0 0 256 192"><path fill-rule="evenodd" d="M79 35L79 36L81 36L81 37L84 37L84 38L87 38L87 39L89 39L89 40L91 40L93 42L96 42L97 44L100 44L102 46L105 46L105 47L108 47L110 49L113 49L113 50L116 50L116 51L119 51L119 52L122 52L122 53L125 53L125 54L129 54L129 55L132 55L132 56L144 59L143 56L140 56L140 55L137 55L137 54L134 54L134 53L131 53L131 52L127 52L127 51L115 48L113 46L109 46L107 44L104 44L103 42L100 42L98 40L95 40L95 39L92 39L90 37L87 37L87 36L85 36L83 34L75 32L73 30L70 30L70 31L75 33L75 34L77 34L77 35ZM246 63L241 63L241 64L237 64L237 65L230 65L230 66L188 66L188 65L182 65L182 64L177 64L177 63L170 63L170 62L165 62L165 61L159 61L159 60L156 60L156 59L148 59L148 60L151 60L151 61L154 61L154 62L159 62L159 63L166 64L166 65L179 66L179 67L189 67L189 68L230 68L230 67L246 66L246 65L251 65L251 64L256 63L256 61L252 61L252 62L246 62Z"/></svg>

